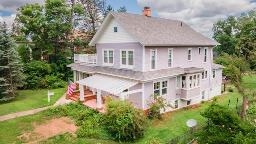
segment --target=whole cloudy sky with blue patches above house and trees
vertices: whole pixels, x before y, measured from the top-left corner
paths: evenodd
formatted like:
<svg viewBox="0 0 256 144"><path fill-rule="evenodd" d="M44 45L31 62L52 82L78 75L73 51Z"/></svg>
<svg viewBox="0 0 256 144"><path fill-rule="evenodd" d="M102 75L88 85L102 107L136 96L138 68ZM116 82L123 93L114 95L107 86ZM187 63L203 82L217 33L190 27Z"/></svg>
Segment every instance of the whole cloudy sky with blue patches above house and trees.
<svg viewBox="0 0 256 144"><path fill-rule="evenodd" d="M10 27L17 8L30 3L44 4L44 0L1 0L0 22ZM212 24L226 20L229 16L240 17L245 12L256 10L256 0L106 0L115 11L120 6L127 8L127 13L142 14L144 6L149 6L151 16L182 20L197 32L212 38Z"/></svg>

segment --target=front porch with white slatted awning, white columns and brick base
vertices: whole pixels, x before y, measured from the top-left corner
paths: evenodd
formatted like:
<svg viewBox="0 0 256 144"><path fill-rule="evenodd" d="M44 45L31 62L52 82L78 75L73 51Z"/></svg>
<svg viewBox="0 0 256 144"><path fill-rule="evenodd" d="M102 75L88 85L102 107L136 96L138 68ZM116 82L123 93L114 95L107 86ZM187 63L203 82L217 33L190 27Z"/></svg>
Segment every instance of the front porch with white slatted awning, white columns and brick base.
<svg viewBox="0 0 256 144"><path fill-rule="evenodd" d="M80 101L84 105L88 106L87 102L89 100L85 99L86 96L84 93L84 86L86 86L86 89L91 90L91 94L95 95L95 98L97 98L96 100L94 99L91 104L96 104L96 110L98 111L102 111L105 106L104 104L106 104L106 102L102 102L102 92L111 96L118 96L121 100L124 100L125 96L128 94L142 92L142 88L124 92L124 90L128 90L128 88L140 83L138 80L120 78L105 74L94 74L82 80L78 80L76 83L79 84Z"/></svg>

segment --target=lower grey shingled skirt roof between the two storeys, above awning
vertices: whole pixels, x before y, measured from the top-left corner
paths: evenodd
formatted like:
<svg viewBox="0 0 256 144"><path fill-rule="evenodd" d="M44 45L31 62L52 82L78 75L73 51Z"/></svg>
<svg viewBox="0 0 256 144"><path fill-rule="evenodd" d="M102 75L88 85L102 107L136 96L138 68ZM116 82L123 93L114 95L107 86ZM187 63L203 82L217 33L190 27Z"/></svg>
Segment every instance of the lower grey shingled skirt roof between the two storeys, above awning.
<svg viewBox="0 0 256 144"><path fill-rule="evenodd" d="M117 68L107 68L101 66L82 66L79 63L68 64L67 67L70 67L72 70L79 70L87 73L100 73L100 74L108 74L112 76L120 76L122 78L130 78L134 80L153 80L156 78L164 78L168 76L174 76L178 74L184 74L184 69L177 68L168 68L164 70L155 70L149 72L138 72L132 70L122 70Z"/></svg>

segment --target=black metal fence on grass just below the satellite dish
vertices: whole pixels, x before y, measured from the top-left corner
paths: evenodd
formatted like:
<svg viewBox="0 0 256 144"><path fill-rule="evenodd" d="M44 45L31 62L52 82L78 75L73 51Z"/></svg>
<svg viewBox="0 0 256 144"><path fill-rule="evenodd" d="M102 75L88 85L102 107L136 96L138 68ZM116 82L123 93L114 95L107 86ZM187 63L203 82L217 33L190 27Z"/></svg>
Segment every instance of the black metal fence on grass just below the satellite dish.
<svg viewBox="0 0 256 144"><path fill-rule="evenodd" d="M181 134L180 136L177 136L176 138L172 138L172 140L170 140L169 142L166 142L166 144L188 144L196 138L195 134L193 133L202 132L204 130L204 126L209 124L210 124L209 120L201 124L198 124L198 126L194 126L190 128L190 130Z"/></svg>

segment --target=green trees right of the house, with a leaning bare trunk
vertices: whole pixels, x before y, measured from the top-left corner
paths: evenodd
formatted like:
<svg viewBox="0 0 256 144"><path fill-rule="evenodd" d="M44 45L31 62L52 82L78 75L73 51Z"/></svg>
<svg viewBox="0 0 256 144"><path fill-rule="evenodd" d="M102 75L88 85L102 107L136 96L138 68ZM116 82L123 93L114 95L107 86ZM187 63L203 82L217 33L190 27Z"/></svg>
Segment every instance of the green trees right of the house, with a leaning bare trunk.
<svg viewBox="0 0 256 144"><path fill-rule="evenodd" d="M223 74L229 76L242 95L242 114L245 115L248 93L242 78L256 70L256 12L251 10L238 18L229 16L226 20L219 20L213 24L212 31L214 40L221 44L215 49L221 52L216 63L226 66Z"/></svg>

